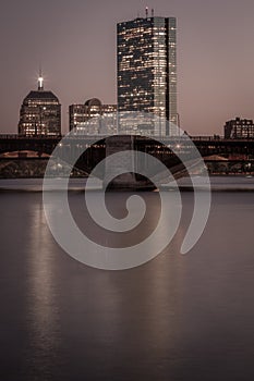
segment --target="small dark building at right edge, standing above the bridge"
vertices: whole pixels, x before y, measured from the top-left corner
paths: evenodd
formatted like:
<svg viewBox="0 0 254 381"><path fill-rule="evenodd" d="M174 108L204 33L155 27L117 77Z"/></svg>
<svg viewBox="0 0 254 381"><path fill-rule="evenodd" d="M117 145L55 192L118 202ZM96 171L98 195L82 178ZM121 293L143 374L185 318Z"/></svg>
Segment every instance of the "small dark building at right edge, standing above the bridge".
<svg viewBox="0 0 254 381"><path fill-rule="evenodd" d="M235 118L226 122L223 128L226 139L254 138L254 124L251 119Z"/></svg>

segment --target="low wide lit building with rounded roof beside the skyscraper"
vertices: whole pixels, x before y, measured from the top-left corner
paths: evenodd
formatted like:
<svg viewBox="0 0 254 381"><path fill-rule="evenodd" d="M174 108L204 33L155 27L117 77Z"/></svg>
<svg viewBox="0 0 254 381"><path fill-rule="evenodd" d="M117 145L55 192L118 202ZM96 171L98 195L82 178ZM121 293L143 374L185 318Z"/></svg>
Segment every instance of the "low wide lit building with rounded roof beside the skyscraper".
<svg viewBox="0 0 254 381"><path fill-rule="evenodd" d="M117 105L102 105L97 98L69 107L70 131L86 135L117 134Z"/></svg>

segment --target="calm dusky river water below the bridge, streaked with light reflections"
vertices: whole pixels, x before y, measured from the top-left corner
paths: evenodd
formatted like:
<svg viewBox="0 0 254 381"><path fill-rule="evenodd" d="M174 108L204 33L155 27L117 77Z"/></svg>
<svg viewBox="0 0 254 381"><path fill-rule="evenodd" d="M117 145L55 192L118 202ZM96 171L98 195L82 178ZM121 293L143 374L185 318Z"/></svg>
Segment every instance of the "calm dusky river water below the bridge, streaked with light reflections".
<svg viewBox="0 0 254 381"><path fill-rule="evenodd" d="M233 181L229 188L226 181L213 180L223 192L213 193L206 230L189 255L179 254L193 204L185 192L167 249L117 272L62 251L41 193L22 192L38 188L23 183L15 190L12 183L12 192L1 192L0 380L253 380L254 180L237 179L253 192L231 192ZM156 193L143 196L150 210L145 234L159 202ZM121 214L124 197L108 195L113 212ZM71 193L70 201L76 220L87 222L84 194Z"/></svg>

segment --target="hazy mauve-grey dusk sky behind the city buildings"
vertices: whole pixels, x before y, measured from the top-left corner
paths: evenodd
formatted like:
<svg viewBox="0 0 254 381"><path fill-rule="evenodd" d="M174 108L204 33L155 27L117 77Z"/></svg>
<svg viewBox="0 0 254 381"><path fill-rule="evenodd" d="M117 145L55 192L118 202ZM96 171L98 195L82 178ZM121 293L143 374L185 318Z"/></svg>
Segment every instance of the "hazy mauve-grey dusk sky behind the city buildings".
<svg viewBox="0 0 254 381"><path fill-rule="evenodd" d="M227 120L254 119L254 0L9 0L0 11L0 133L16 133L20 107L37 88L68 107L117 102L117 23L145 7L178 21L178 111L192 135L222 135Z"/></svg>

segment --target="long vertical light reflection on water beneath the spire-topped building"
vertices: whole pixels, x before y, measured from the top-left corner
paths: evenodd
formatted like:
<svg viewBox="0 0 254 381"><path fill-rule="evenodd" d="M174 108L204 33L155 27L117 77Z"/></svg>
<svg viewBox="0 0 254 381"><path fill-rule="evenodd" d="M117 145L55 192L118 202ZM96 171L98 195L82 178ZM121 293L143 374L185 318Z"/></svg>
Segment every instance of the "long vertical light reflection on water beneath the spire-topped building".
<svg viewBox="0 0 254 381"><path fill-rule="evenodd" d="M35 356L33 358L27 356L27 359L28 362L34 360L35 368L43 366L47 370L44 357L53 356L60 337L55 284L57 263L52 256L55 244L49 239L41 204L31 213L31 226L33 228L28 232L29 255L26 262L28 274L26 317L31 346L34 348Z"/></svg>

